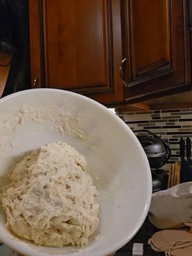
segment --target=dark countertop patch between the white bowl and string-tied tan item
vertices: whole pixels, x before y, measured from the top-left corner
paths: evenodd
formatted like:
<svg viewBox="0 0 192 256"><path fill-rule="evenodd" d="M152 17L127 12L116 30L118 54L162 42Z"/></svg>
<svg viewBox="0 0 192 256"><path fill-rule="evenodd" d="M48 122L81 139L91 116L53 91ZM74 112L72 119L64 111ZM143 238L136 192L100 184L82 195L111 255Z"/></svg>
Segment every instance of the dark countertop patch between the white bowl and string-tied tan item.
<svg viewBox="0 0 192 256"><path fill-rule="evenodd" d="M118 252L115 253L115 256L132 256L133 243L143 243L143 256L164 256L164 253L155 252L148 245L148 239L150 239L150 237L157 231L157 228L155 228L147 218L136 236L134 236L122 249L118 250Z"/></svg>

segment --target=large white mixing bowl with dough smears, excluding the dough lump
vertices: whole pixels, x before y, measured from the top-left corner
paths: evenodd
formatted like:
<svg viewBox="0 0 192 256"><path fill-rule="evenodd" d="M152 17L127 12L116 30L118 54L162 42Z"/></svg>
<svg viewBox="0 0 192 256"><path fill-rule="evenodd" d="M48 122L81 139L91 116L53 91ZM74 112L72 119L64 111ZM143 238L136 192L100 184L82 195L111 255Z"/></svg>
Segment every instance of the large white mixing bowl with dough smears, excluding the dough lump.
<svg viewBox="0 0 192 256"><path fill-rule="evenodd" d="M23 106L31 108L24 117L23 110L19 111ZM41 115L41 111L44 117L37 121L34 115ZM64 113L63 128L55 111ZM85 248L48 248L20 240L6 228L2 209L0 241L30 256L106 256L130 241L147 216L152 179L143 148L115 113L76 93L35 89L1 99L0 116L0 175L26 152L53 141L66 141L86 156L88 172L100 193L100 227Z"/></svg>

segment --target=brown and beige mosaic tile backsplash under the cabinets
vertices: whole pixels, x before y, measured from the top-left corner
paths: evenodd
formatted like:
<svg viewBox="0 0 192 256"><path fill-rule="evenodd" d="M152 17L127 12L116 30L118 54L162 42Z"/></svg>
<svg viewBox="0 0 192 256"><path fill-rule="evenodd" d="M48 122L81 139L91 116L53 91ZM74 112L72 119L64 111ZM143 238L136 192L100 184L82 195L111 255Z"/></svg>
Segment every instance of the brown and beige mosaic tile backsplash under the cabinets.
<svg viewBox="0 0 192 256"><path fill-rule="evenodd" d="M192 139L192 109L166 109L116 114L129 125L132 131L147 129L168 141L172 150L170 163L179 161L180 138Z"/></svg>

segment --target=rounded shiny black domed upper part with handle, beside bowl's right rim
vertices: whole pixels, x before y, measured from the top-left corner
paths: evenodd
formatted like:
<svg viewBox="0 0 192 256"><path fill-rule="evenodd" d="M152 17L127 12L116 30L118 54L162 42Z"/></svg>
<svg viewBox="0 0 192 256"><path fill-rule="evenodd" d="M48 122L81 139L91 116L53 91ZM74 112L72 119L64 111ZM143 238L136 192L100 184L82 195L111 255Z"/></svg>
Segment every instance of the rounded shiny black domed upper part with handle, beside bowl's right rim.
<svg viewBox="0 0 192 256"><path fill-rule="evenodd" d="M138 130L134 132L139 133L136 136L147 155L150 168L157 169L168 162L171 150L164 140L148 130ZM140 132L147 133L147 135L140 135Z"/></svg>

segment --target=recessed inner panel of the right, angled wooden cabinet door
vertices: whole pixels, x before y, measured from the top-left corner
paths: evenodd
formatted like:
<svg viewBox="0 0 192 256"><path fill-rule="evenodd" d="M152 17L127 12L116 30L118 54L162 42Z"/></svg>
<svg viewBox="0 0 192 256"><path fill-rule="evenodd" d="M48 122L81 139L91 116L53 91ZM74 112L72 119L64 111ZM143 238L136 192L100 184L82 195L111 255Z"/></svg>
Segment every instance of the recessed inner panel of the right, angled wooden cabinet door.
<svg viewBox="0 0 192 256"><path fill-rule="evenodd" d="M131 82L139 82L171 68L170 6L166 0L150 1L150 8L148 0L130 3Z"/></svg>

